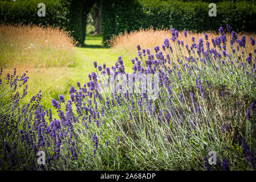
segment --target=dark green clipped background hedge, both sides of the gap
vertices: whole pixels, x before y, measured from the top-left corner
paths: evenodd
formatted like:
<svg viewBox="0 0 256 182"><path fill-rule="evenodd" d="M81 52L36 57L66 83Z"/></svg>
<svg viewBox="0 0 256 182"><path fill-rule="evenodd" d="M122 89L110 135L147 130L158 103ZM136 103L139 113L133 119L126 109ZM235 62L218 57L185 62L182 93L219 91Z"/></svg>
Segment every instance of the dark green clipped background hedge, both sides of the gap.
<svg viewBox="0 0 256 182"><path fill-rule="evenodd" d="M23 22L59 26L72 31L71 35L80 43L86 37L86 19L96 1L102 3L103 42L112 35L153 26L176 28L177 30L217 31L229 23L233 30L255 32L255 1L213 1L217 5L217 16L210 17L209 2L186 0L16 0L0 1L0 22ZM46 5L46 16L38 17L37 5Z"/></svg>

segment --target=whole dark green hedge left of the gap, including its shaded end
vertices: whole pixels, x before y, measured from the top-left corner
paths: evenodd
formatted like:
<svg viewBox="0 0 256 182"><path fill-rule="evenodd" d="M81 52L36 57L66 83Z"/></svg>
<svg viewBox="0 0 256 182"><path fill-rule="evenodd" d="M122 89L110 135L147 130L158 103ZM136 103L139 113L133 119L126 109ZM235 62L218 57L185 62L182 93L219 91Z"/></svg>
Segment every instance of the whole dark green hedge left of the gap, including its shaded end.
<svg viewBox="0 0 256 182"><path fill-rule="evenodd" d="M38 3L46 5L46 16L39 17ZM79 43L86 37L86 19L95 0L16 0L0 1L0 22L58 26L71 32Z"/></svg>

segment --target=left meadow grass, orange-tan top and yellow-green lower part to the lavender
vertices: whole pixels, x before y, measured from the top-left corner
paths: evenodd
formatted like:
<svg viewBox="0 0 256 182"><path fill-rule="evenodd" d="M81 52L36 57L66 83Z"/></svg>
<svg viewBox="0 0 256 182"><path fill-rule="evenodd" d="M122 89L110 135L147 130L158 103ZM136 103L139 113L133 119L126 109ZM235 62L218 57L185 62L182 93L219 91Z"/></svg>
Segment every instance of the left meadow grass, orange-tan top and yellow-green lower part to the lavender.
<svg viewBox="0 0 256 182"><path fill-rule="evenodd" d="M3 76L17 68L18 73L28 71L31 78L29 94L22 104L40 90L42 105L51 107L51 98L65 93L71 82L68 67L75 64L75 44L69 32L58 27L24 24L0 25L0 67Z"/></svg>

